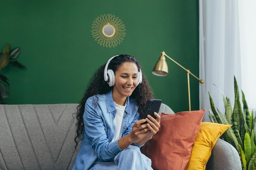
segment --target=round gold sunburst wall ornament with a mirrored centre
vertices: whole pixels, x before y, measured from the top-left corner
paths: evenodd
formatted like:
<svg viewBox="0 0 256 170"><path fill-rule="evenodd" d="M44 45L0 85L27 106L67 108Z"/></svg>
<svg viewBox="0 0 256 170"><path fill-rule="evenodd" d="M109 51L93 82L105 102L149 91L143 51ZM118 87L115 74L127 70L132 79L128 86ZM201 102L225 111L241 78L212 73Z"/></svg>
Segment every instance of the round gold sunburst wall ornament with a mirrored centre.
<svg viewBox="0 0 256 170"><path fill-rule="evenodd" d="M92 24L92 37L98 44L107 48L121 44L125 31L123 22L112 14L101 15Z"/></svg>

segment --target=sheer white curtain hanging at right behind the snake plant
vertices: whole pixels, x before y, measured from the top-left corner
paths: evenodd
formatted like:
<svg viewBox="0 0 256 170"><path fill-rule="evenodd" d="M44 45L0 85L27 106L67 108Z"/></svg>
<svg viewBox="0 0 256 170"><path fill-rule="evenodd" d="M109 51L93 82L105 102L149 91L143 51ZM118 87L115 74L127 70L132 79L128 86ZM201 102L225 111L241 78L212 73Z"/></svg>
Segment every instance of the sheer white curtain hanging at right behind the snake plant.
<svg viewBox="0 0 256 170"><path fill-rule="evenodd" d="M222 94L234 105L234 76L249 109L256 110L256 0L199 0L200 109L209 120L209 94L225 113ZM216 86L214 86L215 84ZM219 88L219 89L218 89Z"/></svg>

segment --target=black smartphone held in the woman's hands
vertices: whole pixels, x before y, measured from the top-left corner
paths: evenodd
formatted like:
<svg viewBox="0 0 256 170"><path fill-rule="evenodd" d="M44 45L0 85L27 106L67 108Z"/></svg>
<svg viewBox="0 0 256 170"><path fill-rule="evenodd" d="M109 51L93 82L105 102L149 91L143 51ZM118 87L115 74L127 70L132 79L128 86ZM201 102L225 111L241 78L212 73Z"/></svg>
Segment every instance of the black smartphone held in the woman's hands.
<svg viewBox="0 0 256 170"><path fill-rule="evenodd" d="M141 116L141 119L146 119L147 115L150 115L156 119L157 117L155 117L154 112L158 113L161 103L161 99L148 99L145 111ZM143 124L146 123L147 122L144 122Z"/></svg>

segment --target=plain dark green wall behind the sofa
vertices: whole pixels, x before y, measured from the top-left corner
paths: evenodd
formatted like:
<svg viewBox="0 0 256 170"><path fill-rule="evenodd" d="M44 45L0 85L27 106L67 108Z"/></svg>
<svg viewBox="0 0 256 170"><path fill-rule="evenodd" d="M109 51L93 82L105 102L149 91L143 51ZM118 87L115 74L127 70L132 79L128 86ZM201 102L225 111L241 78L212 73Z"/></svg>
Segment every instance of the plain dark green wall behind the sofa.
<svg viewBox="0 0 256 170"><path fill-rule="evenodd" d="M3 68L9 78L7 104L79 103L96 69L113 55L139 60L155 97L175 112L188 110L186 72L167 59L169 75L151 73L167 55L198 75L198 0L0 0L0 49L21 48L27 66ZM91 26L100 15L120 18L124 41L97 44ZM191 109L199 109L199 83L191 77Z"/></svg>

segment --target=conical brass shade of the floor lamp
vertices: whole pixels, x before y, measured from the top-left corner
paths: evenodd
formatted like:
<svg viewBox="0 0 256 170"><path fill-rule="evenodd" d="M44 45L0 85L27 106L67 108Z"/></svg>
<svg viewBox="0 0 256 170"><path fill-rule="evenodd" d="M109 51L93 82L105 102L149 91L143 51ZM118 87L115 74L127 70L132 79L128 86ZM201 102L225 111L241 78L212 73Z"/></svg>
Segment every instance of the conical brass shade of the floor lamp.
<svg viewBox="0 0 256 170"><path fill-rule="evenodd" d="M152 73L154 75L157 75L157 76L166 76L166 75L168 75L168 66L167 66L164 55L161 55L157 64L155 64Z"/></svg>

